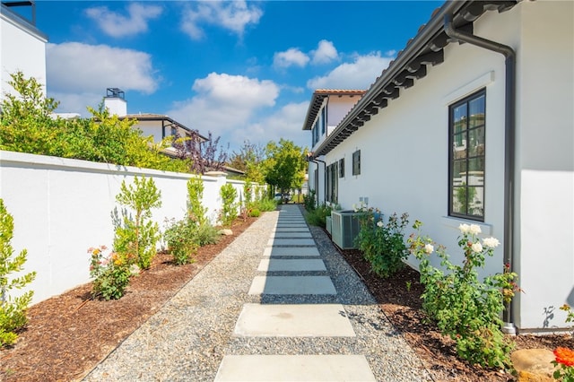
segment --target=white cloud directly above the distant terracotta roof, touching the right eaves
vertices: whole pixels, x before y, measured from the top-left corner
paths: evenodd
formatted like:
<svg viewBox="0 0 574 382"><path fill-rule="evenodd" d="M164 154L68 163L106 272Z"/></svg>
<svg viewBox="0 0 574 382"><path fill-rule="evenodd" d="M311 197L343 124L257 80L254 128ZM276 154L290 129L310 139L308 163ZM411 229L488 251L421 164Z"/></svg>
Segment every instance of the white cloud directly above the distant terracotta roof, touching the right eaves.
<svg viewBox="0 0 574 382"><path fill-rule="evenodd" d="M380 52L356 56L354 62L339 65L325 76L309 80L307 87L311 90L368 89L392 59L390 56L380 56Z"/></svg>

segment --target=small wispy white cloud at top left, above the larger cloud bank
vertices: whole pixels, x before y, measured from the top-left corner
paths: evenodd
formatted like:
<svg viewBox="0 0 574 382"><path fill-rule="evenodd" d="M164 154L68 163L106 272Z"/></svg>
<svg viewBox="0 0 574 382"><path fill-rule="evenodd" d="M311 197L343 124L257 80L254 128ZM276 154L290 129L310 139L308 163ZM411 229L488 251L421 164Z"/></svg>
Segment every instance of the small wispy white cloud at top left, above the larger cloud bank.
<svg viewBox="0 0 574 382"><path fill-rule="evenodd" d="M112 37L133 36L147 30L148 21L161 15L158 5L130 3L127 5L127 15L109 11L106 6L88 8L85 13L100 29Z"/></svg>

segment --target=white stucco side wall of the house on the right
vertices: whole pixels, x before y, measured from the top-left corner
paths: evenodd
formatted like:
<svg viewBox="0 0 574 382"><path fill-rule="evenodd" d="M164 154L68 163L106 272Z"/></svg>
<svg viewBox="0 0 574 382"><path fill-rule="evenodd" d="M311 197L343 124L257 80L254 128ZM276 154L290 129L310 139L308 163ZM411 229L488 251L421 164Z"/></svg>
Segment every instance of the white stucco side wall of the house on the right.
<svg viewBox="0 0 574 382"><path fill-rule="evenodd" d="M515 324L540 328L544 308L551 326L564 327L558 307L574 303L572 159L572 3L522 2L506 13L486 13L474 34L517 50L517 215L515 262L525 290L515 301ZM542 28L541 26L544 26ZM548 31L547 31L548 30ZM462 260L457 227L473 223L448 215L448 105L486 89L485 219L483 236L500 239L483 272L503 265L504 57L470 44L450 44L445 62L403 90L397 100L326 155L345 158L339 178L344 209L367 196L370 206L409 213L423 233ZM560 94L560 95L556 95ZM361 175L351 172L361 150ZM550 197L549 197L550 196ZM407 234L410 232L407 232ZM415 260L409 260L415 265Z"/></svg>

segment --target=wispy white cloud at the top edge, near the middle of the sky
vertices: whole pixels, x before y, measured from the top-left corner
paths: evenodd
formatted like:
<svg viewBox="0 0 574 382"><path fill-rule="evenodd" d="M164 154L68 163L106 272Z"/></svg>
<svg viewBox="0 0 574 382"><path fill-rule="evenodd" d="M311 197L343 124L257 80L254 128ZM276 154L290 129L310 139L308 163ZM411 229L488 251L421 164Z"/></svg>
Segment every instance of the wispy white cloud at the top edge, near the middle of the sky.
<svg viewBox="0 0 574 382"><path fill-rule="evenodd" d="M262 15L260 8L244 0L192 2L184 13L181 29L192 39L204 37L202 24L219 26L243 36L247 26L257 24Z"/></svg>

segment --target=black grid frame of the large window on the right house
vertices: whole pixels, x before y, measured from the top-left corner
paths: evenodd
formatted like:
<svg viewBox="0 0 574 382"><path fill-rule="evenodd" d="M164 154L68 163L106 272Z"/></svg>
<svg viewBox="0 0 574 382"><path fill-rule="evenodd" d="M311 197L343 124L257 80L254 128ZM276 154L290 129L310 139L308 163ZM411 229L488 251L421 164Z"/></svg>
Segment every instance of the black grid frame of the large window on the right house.
<svg viewBox="0 0 574 382"><path fill-rule="evenodd" d="M483 109L480 110L483 112L483 121L480 124L475 126L469 126L471 121L471 108L470 105L474 100L479 100L483 97ZM461 131L456 130L455 124L455 110L465 106L465 129ZM482 135L478 135L480 130L482 129ZM474 134L474 135L473 135ZM471 135L474 137L478 136L478 141L482 140L483 142L483 149L482 152L475 152L471 154L471 150L469 147L469 143L471 140ZM462 143L465 141L465 157L464 158L455 158L455 144ZM469 164L472 161L482 161L482 184L479 185L471 185L469 179L471 178L469 169ZM454 185L454 176L455 176L455 169L457 163L464 163L465 167L465 181L463 181L464 186L457 186ZM457 100L450 105L448 105L448 216L466 219L471 221L484 221L484 212L485 212L485 199L486 199L486 88L483 88L479 91L474 91L472 94L465 96L464 98ZM468 200L465 200L466 211L465 213L460 213L455 211L454 208L454 198L457 189L465 189L463 193L467 198L469 195L469 190L471 188L479 189L482 188L482 213L475 214L473 213L474 209L471 210L471 205Z"/></svg>

